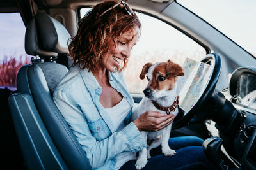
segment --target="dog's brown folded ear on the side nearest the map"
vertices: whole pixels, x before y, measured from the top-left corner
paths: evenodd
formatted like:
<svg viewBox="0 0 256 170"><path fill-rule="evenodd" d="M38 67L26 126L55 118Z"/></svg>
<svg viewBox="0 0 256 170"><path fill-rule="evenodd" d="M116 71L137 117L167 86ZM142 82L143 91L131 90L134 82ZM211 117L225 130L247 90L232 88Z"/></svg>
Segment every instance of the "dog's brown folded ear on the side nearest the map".
<svg viewBox="0 0 256 170"><path fill-rule="evenodd" d="M184 76L184 71L179 64L168 60L166 65L166 77L168 76Z"/></svg>

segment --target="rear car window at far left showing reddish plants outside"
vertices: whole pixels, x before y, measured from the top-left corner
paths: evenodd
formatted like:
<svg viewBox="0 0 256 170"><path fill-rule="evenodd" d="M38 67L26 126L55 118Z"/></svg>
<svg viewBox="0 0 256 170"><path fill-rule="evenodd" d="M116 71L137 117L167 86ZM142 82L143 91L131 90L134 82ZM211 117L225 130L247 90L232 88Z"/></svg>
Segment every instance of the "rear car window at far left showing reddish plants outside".
<svg viewBox="0 0 256 170"><path fill-rule="evenodd" d="M24 49L26 27L19 13L0 13L0 88L16 89L16 74L29 63Z"/></svg>

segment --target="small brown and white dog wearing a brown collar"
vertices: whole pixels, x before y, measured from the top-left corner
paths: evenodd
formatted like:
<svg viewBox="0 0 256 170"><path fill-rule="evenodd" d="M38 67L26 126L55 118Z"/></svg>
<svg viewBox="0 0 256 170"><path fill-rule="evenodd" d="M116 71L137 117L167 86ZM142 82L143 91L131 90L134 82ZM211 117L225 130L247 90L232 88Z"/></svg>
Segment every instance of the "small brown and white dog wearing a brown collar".
<svg viewBox="0 0 256 170"><path fill-rule="evenodd" d="M179 64L171 60L167 62L157 62L156 64L147 63L143 66L140 79L144 79L147 74L148 85L143 91L145 96L138 104L132 114L132 120L140 117L146 111L158 111L163 114L177 115L179 103L176 94L178 76L184 76L184 71ZM163 129L151 132L141 131L145 141L150 141L150 145L139 152L136 161L136 169L142 169L150 158L150 150L162 145L162 152L165 156L175 154L175 150L170 149L168 139L172 129L172 123Z"/></svg>

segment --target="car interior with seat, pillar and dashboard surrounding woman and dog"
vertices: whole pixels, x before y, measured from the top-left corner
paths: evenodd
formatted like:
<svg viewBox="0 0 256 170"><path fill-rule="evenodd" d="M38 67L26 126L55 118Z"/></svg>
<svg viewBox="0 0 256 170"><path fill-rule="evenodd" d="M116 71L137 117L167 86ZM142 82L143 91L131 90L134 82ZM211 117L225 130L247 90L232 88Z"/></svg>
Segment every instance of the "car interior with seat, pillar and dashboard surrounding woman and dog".
<svg viewBox="0 0 256 170"><path fill-rule="evenodd" d="M25 50L33 56L17 73L17 90L1 91L1 150L7 167L92 169L52 93L72 66L67 42L76 35L77 22L83 17L77 11L99 2L0 2L1 13L20 13L26 25ZM207 55L200 62L213 67L204 92L188 113L175 118L170 136L204 139L205 155L219 169L256 169L255 57L177 1L127 3L134 11L158 18L204 46ZM136 103L143 97L132 96ZM211 122L218 136L209 130Z"/></svg>

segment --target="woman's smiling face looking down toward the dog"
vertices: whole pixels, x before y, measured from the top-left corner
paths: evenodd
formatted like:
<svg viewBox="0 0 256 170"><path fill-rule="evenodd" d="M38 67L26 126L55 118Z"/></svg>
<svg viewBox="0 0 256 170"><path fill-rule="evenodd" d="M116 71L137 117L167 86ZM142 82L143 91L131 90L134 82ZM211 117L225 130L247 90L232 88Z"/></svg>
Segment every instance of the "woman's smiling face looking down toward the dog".
<svg viewBox="0 0 256 170"><path fill-rule="evenodd" d="M124 32L117 40L108 41L108 52L103 55L102 69L115 71L116 67L123 62L125 58L130 57L131 50L140 36L140 29L134 27L132 31ZM115 41L117 41L115 43Z"/></svg>

